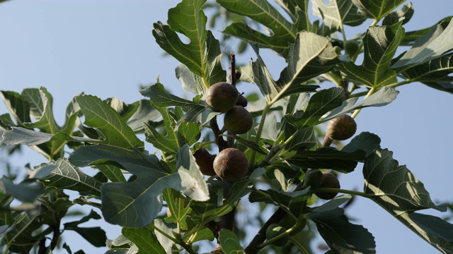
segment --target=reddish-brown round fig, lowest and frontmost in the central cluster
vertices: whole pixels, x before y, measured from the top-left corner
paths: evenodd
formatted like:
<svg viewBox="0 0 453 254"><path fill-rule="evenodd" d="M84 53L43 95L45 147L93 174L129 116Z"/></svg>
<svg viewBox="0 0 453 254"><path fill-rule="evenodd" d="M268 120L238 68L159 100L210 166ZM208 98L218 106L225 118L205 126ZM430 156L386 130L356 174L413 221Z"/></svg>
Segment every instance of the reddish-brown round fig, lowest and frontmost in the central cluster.
<svg viewBox="0 0 453 254"><path fill-rule="evenodd" d="M214 171L225 181L239 181L247 174L246 155L236 148L226 148L214 159Z"/></svg>

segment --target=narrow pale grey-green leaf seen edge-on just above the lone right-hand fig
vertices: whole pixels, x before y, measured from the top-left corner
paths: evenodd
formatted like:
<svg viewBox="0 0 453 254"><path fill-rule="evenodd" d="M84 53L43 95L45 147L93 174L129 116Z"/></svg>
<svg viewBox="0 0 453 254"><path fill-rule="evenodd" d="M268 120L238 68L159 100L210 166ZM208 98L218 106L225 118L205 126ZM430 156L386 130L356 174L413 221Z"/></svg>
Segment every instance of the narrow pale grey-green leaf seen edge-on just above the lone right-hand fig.
<svg viewBox="0 0 453 254"><path fill-rule="evenodd" d="M362 109L365 107L382 107L387 104L390 104L396 99L396 95L398 95L398 91L392 87L382 87L374 94L370 95L369 97L362 100L362 102L357 102L357 97L352 97L347 99L343 102L343 104L331 111L331 114L328 116L323 117L321 121L328 121L334 119L338 116L343 114L347 114L349 112L355 111L356 109Z"/></svg>

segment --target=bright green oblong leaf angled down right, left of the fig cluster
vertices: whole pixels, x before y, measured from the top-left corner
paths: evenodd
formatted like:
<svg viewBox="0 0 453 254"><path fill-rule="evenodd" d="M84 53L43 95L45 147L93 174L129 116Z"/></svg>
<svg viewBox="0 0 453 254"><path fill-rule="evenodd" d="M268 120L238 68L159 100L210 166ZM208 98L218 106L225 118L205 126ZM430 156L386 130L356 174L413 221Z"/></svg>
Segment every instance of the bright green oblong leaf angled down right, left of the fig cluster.
<svg viewBox="0 0 453 254"><path fill-rule="evenodd" d="M85 116L84 123L102 132L105 145L115 145L129 150L133 147L144 147L143 141L137 138L120 114L98 97L79 95L76 102Z"/></svg>

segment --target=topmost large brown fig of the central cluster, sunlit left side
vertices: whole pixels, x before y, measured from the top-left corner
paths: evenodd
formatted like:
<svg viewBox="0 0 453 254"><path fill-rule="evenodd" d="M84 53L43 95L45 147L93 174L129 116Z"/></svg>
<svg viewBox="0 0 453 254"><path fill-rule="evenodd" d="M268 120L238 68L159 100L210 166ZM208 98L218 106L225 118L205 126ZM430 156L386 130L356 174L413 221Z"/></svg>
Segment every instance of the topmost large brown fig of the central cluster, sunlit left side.
<svg viewBox="0 0 453 254"><path fill-rule="evenodd" d="M220 82L211 85L206 92L206 104L216 112L226 113L239 98L239 92L234 85Z"/></svg>

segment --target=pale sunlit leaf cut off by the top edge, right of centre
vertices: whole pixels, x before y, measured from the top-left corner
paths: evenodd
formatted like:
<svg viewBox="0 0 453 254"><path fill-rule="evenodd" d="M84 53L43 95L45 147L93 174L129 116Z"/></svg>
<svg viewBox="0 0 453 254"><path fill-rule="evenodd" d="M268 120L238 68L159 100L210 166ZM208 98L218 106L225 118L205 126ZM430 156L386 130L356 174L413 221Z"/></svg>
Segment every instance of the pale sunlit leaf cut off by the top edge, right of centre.
<svg viewBox="0 0 453 254"><path fill-rule="evenodd" d="M343 25L361 25L367 20L357 13L357 6L350 0L330 0L328 4L315 0L312 7L313 14L322 18L331 30L340 30Z"/></svg>

